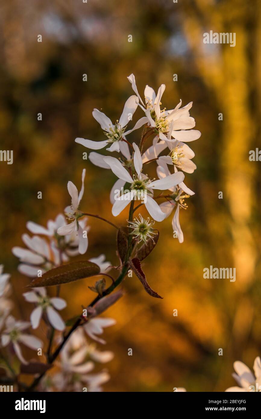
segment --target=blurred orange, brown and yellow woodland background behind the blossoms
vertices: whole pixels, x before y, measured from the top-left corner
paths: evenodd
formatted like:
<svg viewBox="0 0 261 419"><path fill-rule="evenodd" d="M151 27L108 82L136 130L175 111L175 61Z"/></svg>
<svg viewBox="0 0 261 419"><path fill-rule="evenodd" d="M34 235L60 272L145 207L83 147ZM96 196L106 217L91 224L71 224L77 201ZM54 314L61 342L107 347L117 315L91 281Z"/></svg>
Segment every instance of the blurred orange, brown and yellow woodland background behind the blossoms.
<svg viewBox="0 0 261 419"><path fill-rule="evenodd" d="M210 30L235 32L236 46L203 44ZM12 274L16 316L31 312L21 295L29 279L11 253L22 245L26 221L46 225L62 212L67 181L80 187L84 167L81 208L114 218L109 191L116 177L83 160L88 150L74 142L104 139L94 107L119 118L133 94L133 72L141 94L146 84L156 90L165 83L167 109L180 98L183 105L193 101L191 116L202 132L190 144L197 170L186 174L186 184L196 194L181 211L184 243L173 239L171 218L157 223L160 240L143 265L164 299L148 296L133 275L106 313L117 323L104 333L115 353L105 391L225 391L235 385L233 362L252 368L261 355L260 162L248 159L261 146L260 46L258 0L0 2L0 148L14 153L13 165L0 163L0 262ZM127 210L118 222L126 218ZM84 258L105 253L117 264L114 230L89 224ZM210 265L235 267L236 281L203 279ZM93 298L90 282L62 287L67 318Z"/></svg>

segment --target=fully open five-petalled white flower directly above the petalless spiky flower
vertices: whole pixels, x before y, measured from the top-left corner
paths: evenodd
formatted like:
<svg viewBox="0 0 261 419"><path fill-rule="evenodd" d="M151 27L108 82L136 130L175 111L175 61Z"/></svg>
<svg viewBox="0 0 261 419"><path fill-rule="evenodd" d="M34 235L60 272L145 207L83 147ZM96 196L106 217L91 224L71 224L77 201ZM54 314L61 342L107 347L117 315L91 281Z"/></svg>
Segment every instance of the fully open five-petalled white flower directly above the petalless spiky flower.
<svg viewBox="0 0 261 419"><path fill-rule="evenodd" d="M133 178L129 172L121 165L119 160L114 157L104 157L104 161L111 167L113 173L125 182L130 184L130 191L115 200L112 207L112 214L114 217L120 214L120 212L127 207L127 205L134 199L143 199L147 211L151 217L156 221L163 221L165 219L164 212L161 211L157 202L152 199L153 189L165 190L169 189L177 184L180 184L184 179L184 174L181 172L173 173L172 175L166 176L165 178L151 181L147 176L142 173L142 158L139 147L133 143L134 147L134 168L136 173Z"/></svg>

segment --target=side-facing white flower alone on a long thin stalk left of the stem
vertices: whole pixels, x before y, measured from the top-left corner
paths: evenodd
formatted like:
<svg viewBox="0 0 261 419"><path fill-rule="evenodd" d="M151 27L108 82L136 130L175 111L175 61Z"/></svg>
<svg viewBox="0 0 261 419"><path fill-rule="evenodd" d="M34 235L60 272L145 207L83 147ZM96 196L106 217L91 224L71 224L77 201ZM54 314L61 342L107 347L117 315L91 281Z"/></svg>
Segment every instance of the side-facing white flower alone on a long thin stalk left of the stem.
<svg viewBox="0 0 261 419"><path fill-rule="evenodd" d="M70 235L75 231L78 231L78 238L79 238L79 253L83 255L87 248L88 248L88 238L87 234L83 234L83 228L78 222L78 218L82 216L82 212L78 210L80 201L83 197L84 192L84 178L85 178L85 169L83 169L82 173L82 187L80 193L78 194L78 190L71 181L68 182L67 188L68 192L72 198L72 204L65 208L65 215L69 220L73 220L70 224L67 224L63 227L59 227L57 233L59 235ZM86 237L85 237L86 235Z"/></svg>

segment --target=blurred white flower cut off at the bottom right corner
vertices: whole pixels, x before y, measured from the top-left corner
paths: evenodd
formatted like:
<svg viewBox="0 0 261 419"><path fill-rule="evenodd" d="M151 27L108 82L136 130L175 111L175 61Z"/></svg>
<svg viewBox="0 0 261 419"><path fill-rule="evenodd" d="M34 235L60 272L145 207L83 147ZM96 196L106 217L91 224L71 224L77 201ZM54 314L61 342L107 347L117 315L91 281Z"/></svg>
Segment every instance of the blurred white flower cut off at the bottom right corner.
<svg viewBox="0 0 261 419"><path fill-rule="evenodd" d="M226 391L231 392L261 392L261 360L260 357L256 357L254 361L253 372L241 361L234 362L234 370L236 372L232 374L236 382L240 387L230 387Z"/></svg>

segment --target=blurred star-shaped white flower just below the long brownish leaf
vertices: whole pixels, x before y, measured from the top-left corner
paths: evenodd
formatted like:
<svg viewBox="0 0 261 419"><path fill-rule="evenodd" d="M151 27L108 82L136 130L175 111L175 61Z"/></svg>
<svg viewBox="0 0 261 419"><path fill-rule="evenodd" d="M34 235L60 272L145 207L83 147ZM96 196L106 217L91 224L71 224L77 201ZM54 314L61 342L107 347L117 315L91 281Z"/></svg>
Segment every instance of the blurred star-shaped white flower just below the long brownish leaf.
<svg viewBox="0 0 261 419"><path fill-rule="evenodd" d="M25 292L23 296L29 303L35 303L37 305L30 316L33 329L36 329L39 326L44 311L46 311L48 320L54 329L60 331L65 329L65 322L56 311L66 307L67 304L65 300L59 297L49 298L43 287L35 288L34 291ZM56 310L54 310L54 308L56 308Z"/></svg>

